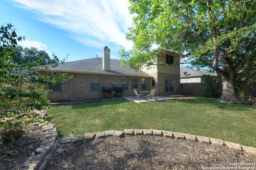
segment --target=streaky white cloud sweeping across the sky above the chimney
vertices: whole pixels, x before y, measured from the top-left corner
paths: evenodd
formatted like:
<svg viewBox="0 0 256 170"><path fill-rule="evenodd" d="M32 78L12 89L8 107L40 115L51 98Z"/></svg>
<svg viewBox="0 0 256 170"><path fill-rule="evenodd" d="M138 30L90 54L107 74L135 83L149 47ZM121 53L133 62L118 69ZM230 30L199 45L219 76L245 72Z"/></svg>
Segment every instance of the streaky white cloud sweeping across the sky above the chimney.
<svg viewBox="0 0 256 170"><path fill-rule="evenodd" d="M131 48L126 32L131 26L128 0L14 0L44 21L70 33L85 45L123 45Z"/></svg>

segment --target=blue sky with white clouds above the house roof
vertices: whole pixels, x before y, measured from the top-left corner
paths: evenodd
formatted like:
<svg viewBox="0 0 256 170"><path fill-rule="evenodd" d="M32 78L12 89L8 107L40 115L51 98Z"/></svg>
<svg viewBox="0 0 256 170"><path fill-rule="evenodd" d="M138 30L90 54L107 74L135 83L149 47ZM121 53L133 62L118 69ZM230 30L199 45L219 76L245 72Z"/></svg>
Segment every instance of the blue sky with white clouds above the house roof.
<svg viewBox="0 0 256 170"><path fill-rule="evenodd" d="M0 0L0 25L12 23L25 36L22 47L36 47L67 61L102 57L104 46L119 59L132 16L128 0Z"/></svg>

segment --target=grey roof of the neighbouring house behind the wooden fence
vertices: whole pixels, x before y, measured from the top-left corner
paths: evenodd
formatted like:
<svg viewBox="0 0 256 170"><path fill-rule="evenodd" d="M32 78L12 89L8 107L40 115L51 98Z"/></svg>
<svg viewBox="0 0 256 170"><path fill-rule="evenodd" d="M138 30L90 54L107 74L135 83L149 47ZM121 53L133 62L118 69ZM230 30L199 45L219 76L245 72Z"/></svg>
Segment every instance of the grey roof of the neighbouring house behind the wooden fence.
<svg viewBox="0 0 256 170"><path fill-rule="evenodd" d="M218 77L216 73L208 72L206 70L196 70L188 67L180 67L180 78L194 77L194 76L208 76L208 75Z"/></svg>

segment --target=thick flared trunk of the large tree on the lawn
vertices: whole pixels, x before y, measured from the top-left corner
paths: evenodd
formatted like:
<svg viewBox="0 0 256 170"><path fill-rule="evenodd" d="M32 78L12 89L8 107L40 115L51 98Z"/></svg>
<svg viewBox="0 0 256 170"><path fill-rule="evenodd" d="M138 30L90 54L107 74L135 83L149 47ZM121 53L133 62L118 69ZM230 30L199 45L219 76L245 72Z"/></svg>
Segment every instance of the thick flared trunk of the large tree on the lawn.
<svg viewBox="0 0 256 170"><path fill-rule="evenodd" d="M220 75L222 78L222 95L219 100L226 102L241 102L236 93L236 73L229 70Z"/></svg>

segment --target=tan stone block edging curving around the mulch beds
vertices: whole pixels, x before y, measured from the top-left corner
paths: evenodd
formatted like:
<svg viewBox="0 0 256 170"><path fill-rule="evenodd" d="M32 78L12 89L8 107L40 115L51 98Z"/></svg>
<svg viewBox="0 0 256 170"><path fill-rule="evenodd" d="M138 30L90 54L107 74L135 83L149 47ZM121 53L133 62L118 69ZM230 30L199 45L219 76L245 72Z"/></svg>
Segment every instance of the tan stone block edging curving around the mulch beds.
<svg viewBox="0 0 256 170"><path fill-rule="evenodd" d="M36 114L47 117L46 111L35 111ZM47 122L47 121L46 121ZM42 131L45 133L45 140L42 141L41 146L34 151L34 156L28 158L23 164L20 170L45 170L50 162L52 154L58 144L58 133L54 124L45 123L36 124L42 128ZM162 136L172 139L184 139L194 142L213 144L218 146L228 146L239 151L246 151L249 154L256 156L256 148L246 147L244 145L223 141L220 139L203 137L198 135L190 135L186 133L162 131L156 129L124 129L124 131L110 130L102 131L97 133L85 133L84 135L77 135L73 137L64 137L60 139L62 144L71 143L71 142L80 142L82 140L90 141L93 139L101 139L104 137L122 137L123 135L152 135L152 136Z"/></svg>

